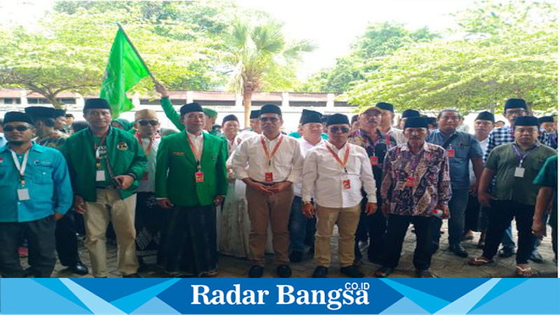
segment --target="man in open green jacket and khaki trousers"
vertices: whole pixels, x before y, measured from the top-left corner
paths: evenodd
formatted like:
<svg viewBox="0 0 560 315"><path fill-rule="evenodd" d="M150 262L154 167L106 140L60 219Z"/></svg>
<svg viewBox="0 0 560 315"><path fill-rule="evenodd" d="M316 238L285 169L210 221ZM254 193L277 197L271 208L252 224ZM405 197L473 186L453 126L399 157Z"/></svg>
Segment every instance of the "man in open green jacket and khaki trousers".
<svg viewBox="0 0 560 315"><path fill-rule="evenodd" d="M84 214L86 241L95 277L106 277L106 230L117 236L118 271L139 277L136 255L137 179L144 174L146 155L132 134L111 127L111 107L105 99L88 99L83 109L90 127L76 132L62 146L74 192L73 207Z"/></svg>

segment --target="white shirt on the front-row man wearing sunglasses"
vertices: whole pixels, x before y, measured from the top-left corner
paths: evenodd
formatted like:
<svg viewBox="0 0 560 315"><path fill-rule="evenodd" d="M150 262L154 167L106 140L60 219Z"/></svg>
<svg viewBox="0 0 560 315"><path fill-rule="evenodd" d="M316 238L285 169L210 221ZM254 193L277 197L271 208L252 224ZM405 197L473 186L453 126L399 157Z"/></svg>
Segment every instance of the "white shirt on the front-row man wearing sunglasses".
<svg viewBox="0 0 560 315"><path fill-rule="evenodd" d="M341 161L344 161L346 146L350 146L347 174L326 146L330 146ZM350 188L344 189L342 181L347 179L350 180ZM325 141L307 154L303 165L302 201L310 201L311 195L314 195L314 201L322 207L354 207L362 201L362 187L367 193L367 202L377 202L372 166L361 146L346 143L338 150Z"/></svg>

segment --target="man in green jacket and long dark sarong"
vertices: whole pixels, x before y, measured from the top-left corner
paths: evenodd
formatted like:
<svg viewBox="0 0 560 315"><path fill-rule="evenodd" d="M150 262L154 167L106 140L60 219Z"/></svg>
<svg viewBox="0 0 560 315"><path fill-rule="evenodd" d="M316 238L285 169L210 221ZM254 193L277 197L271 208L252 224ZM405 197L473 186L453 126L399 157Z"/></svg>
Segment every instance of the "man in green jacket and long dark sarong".
<svg viewBox="0 0 560 315"><path fill-rule="evenodd" d="M164 137L155 166L155 197L171 209L165 270L175 276L214 276L218 267L216 206L228 190L226 142L206 132L202 106L181 107L186 131Z"/></svg>

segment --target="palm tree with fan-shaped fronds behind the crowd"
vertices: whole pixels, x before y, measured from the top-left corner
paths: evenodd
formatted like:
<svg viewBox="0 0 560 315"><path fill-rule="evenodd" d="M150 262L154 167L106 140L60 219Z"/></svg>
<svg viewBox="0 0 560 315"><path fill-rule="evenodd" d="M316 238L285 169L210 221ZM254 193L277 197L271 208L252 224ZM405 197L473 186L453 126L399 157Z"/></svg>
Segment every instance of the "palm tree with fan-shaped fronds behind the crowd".
<svg viewBox="0 0 560 315"><path fill-rule="evenodd" d="M277 67L300 62L302 53L311 52L315 46L307 40L286 43L282 25L274 20L253 26L236 19L228 39L228 61L235 66L228 90L243 94L244 122L248 126L251 97L262 87L265 75Z"/></svg>

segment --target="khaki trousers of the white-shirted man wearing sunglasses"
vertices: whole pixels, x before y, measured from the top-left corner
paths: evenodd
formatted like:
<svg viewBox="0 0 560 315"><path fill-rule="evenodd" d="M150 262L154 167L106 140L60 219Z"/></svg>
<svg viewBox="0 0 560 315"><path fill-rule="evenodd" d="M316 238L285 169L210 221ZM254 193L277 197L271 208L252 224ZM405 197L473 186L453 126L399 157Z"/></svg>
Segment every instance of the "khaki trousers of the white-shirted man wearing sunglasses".
<svg viewBox="0 0 560 315"><path fill-rule="evenodd" d="M354 235L360 219L360 204L349 208L328 208L317 205L317 232L315 233L315 260L317 265L330 265L330 237L338 225L338 260L340 267L354 261Z"/></svg>

